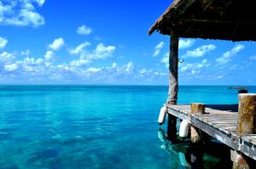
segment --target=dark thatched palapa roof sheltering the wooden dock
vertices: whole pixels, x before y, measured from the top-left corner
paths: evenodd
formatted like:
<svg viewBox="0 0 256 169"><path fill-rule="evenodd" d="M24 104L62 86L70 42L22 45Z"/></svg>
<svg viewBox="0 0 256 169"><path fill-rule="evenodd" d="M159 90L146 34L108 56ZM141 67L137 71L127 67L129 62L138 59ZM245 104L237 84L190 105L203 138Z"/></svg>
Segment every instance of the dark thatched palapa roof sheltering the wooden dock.
<svg viewBox="0 0 256 169"><path fill-rule="evenodd" d="M175 0L152 25L178 37L256 41L256 0Z"/></svg>

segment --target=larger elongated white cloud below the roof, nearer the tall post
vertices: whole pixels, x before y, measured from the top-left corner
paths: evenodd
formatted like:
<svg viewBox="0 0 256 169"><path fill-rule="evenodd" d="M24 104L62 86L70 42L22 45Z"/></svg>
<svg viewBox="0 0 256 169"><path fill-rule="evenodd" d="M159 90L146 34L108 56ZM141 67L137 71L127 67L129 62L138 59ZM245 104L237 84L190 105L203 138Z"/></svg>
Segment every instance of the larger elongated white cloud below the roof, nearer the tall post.
<svg viewBox="0 0 256 169"><path fill-rule="evenodd" d="M216 48L215 45L209 44L209 45L203 45L199 48L195 48L194 50L189 50L186 54L182 56L182 58L198 58L202 57L208 52L214 50Z"/></svg>

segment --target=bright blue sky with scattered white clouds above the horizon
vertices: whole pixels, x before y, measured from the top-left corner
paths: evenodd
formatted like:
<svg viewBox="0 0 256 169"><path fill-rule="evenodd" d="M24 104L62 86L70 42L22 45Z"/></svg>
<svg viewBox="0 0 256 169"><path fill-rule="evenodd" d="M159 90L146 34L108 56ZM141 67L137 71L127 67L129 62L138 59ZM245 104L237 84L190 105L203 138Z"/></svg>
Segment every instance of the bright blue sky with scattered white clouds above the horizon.
<svg viewBox="0 0 256 169"><path fill-rule="evenodd" d="M168 84L166 0L0 0L1 84ZM179 84L256 85L255 42L180 39Z"/></svg>

